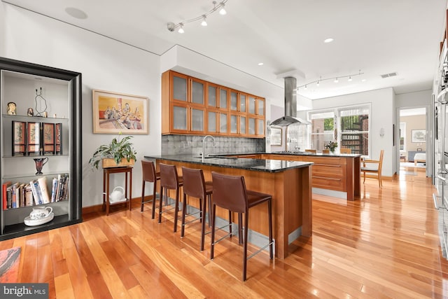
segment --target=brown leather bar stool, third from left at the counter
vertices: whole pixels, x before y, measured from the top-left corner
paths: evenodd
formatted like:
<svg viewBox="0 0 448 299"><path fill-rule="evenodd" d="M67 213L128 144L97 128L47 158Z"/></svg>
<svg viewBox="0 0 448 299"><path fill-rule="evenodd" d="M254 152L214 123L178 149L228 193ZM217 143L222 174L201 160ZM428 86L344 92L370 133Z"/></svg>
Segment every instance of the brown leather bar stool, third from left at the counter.
<svg viewBox="0 0 448 299"><path fill-rule="evenodd" d="M213 186L211 181L206 182L204 180L204 172L202 169L191 169L187 167L182 167L183 176L183 208L182 208L182 228L181 237L183 237L185 232L185 226L188 223L199 220L202 222L201 229L201 251L204 250L204 237L205 237L205 214L207 213L207 200L209 202L209 223L211 221L211 193L213 192ZM199 198L199 209L200 211L187 214L187 195L190 197ZM193 216L199 214L197 218L192 221L185 222L186 216Z"/></svg>

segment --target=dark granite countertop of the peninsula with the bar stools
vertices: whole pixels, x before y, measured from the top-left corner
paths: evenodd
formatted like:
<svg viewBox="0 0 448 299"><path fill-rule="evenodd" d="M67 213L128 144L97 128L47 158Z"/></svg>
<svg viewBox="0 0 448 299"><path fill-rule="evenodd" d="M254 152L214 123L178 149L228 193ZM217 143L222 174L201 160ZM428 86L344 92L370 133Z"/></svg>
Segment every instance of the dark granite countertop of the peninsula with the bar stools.
<svg viewBox="0 0 448 299"><path fill-rule="evenodd" d="M246 155L244 153L241 155ZM204 158L200 155L144 155L147 159L162 159L178 162L189 162L202 165L211 165L226 168L239 168L248 169L259 172L283 172L286 169L309 167L312 162L299 162L288 160L261 160L261 159L248 159L248 158L233 158L229 157L230 154L224 155L210 155ZM232 154L238 155L238 154Z"/></svg>

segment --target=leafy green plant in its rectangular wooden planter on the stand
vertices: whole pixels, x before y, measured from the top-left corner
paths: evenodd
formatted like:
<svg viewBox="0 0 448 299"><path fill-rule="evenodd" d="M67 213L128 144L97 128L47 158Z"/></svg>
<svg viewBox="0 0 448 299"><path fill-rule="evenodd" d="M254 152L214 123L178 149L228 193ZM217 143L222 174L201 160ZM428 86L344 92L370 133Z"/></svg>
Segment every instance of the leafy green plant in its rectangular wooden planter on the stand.
<svg viewBox="0 0 448 299"><path fill-rule="evenodd" d="M99 146L90 158L89 164L96 169L99 161L103 161L103 168L134 165L137 152L134 151L131 138L132 136L127 136L120 140L120 137L118 139L115 137L109 145Z"/></svg>

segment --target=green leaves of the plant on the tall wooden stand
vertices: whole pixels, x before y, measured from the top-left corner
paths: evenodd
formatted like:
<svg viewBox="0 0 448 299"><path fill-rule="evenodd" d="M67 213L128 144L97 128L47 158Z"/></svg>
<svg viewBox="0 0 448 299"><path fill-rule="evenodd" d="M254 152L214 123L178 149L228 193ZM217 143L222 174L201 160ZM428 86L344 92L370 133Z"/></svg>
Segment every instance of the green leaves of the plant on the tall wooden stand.
<svg viewBox="0 0 448 299"><path fill-rule="evenodd" d="M99 146L93 153L92 158L90 158L89 164L92 165L92 168L95 167L98 169L99 161L104 158L113 158L117 164L120 163L123 158L125 158L127 162L131 159L136 160L135 155L137 155L137 152L134 151L134 147L130 141L131 138L132 136L127 136L121 140L120 137L118 137L118 139L113 138L109 145L103 144L102 146Z"/></svg>

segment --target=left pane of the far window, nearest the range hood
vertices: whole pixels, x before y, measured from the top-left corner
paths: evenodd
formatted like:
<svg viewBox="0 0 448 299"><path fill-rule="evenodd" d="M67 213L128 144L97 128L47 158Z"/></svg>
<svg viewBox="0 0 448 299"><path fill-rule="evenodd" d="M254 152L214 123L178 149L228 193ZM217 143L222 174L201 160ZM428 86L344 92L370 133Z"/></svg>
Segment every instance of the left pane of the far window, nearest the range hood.
<svg viewBox="0 0 448 299"><path fill-rule="evenodd" d="M335 111L318 111L309 114L311 120L310 146L318 151L335 140Z"/></svg>

